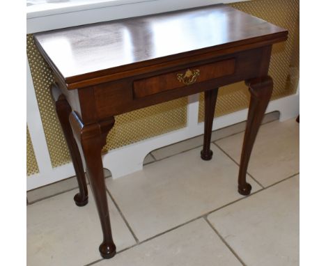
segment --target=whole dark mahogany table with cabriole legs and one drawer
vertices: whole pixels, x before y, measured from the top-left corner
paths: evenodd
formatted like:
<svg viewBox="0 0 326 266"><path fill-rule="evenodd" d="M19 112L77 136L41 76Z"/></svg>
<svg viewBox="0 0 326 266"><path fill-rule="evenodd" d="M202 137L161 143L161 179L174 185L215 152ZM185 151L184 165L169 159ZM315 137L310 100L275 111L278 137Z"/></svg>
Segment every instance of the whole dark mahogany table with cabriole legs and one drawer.
<svg viewBox="0 0 326 266"><path fill-rule="evenodd" d="M114 116L203 91L201 158L210 160L217 91L245 81L251 100L238 191L248 195L249 157L272 95L273 81L267 75L272 45L287 36L285 29L224 5L34 35L54 72L52 95L77 175L79 193L74 199L78 206L88 203L86 167L102 226L103 258L116 254L101 157Z"/></svg>

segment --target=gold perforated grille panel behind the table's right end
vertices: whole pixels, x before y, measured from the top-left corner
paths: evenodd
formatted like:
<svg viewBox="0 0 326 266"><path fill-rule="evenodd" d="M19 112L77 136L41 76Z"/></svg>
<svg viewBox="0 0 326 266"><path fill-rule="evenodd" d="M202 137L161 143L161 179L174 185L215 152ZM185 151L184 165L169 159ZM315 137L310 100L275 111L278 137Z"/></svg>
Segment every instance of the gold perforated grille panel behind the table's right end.
<svg viewBox="0 0 326 266"><path fill-rule="evenodd" d="M272 99L293 94L299 80L299 0L253 0L230 3L233 8L288 30L288 40L272 48L269 75L274 80ZM247 108L249 93L243 82L219 89L215 116ZM204 118L203 93L199 103L199 122Z"/></svg>

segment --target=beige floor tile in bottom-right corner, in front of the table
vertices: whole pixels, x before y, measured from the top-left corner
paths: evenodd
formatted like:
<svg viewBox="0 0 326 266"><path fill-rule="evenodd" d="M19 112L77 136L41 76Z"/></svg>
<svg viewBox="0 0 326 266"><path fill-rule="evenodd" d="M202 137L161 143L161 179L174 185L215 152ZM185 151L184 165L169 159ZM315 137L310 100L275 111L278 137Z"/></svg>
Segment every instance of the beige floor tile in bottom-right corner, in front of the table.
<svg viewBox="0 0 326 266"><path fill-rule="evenodd" d="M299 176L208 216L246 265L299 265Z"/></svg>

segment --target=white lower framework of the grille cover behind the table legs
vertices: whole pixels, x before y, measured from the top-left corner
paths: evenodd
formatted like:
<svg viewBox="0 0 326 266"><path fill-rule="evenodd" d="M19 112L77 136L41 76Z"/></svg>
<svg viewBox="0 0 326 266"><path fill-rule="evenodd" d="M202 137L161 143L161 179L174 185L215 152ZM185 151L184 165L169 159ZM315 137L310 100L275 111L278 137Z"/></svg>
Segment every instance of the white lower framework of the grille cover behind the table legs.
<svg viewBox="0 0 326 266"><path fill-rule="evenodd" d="M103 167L111 171L113 178L120 178L123 175L141 171L143 159L152 150L203 134L203 123L197 123L199 95L189 96L187 111L187 127L111 150L102 157ZM299 93L271 101L266 113L272 111L280 112L281 121L296 117L299 114ZM247 119L247 113L248 109L244 109L215 118L213 130L240 123ZM28 125L40 173L27 178L27 190L36 189L75 175L72 163L52 168L39 114L38 117L34 116L33 119L28 119Z"/></svg>

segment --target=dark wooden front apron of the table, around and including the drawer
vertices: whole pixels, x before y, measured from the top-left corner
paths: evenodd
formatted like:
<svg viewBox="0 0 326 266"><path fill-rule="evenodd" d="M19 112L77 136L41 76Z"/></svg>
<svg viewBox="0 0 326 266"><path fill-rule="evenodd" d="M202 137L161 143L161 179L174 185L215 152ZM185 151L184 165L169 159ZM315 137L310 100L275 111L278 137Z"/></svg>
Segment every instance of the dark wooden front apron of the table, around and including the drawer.
<svg viewBox="0 0 326 266"><path fill-rule="evenodd" d="M267 75L267 71L262 72L262 68L268 69L269 57L270 47L260 47L79 88L81 118L84 123L93 123L153 104L260 77L262 73ZM198 79L189 85L178 81L178 74L185 75L188 69L192 72L200 70ZM192 77L185 78L189 80Z"/></svg>

